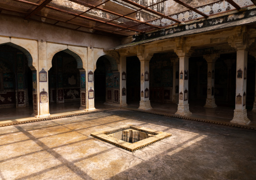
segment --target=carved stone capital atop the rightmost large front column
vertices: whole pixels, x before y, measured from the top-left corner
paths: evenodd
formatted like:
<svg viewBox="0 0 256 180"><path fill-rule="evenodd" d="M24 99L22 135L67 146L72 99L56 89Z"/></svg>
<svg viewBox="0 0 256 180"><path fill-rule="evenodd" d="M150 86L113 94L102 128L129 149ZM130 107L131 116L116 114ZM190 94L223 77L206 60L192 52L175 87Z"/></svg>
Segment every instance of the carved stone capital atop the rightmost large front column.
<svg viewBox="0 0 256 180"><path fill-rule="evenodd" d="M254 40L255 39L248 38L248 32L245 26L239 26L234 28L234 35L231 35L228 38L228 44L236 51L247 51L249 46L254 42Z"/></svg>

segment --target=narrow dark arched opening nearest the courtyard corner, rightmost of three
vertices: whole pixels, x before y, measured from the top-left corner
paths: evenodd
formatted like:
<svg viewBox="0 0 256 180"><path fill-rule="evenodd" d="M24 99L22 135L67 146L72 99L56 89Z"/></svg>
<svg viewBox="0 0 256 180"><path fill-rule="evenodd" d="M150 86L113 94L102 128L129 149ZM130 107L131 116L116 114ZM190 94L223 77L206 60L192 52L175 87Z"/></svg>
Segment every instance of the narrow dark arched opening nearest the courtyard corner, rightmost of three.
<svg viewBox="0 0 256 180"><path fill-rule="evenodd" d="M101 56L94 72L95 107L104 104L119 105L120 73L116 61L109 56Z"/></svg>

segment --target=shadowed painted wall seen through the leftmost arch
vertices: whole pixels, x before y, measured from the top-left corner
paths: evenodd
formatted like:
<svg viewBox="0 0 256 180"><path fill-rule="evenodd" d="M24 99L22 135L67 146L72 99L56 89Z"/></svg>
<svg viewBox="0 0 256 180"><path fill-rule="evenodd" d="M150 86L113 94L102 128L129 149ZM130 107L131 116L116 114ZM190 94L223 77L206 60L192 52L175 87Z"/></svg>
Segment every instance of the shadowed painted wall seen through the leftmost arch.
<svg viewBox="0 0 256 180"><path fill-rule="evenodd" d="M27 63L27 58L21 51L8 45L1 45L0 108L29 105Z"/></svg>

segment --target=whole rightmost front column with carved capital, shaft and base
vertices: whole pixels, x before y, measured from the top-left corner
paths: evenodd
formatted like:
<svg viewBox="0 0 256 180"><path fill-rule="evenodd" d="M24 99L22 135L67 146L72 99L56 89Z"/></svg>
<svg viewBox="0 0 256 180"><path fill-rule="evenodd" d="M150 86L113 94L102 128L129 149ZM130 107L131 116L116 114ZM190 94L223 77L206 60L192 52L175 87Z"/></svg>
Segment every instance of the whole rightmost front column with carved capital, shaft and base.
<svg viewBox="0 0 256 180"><path fill-rule="evenodd" d="M247 48L254 39L247 38L246 27L236 27L236 33L228 39L228 43L236 50L236 99L234 117L230 122L248 124L246 110L246 81L247 81Z"/></svg>

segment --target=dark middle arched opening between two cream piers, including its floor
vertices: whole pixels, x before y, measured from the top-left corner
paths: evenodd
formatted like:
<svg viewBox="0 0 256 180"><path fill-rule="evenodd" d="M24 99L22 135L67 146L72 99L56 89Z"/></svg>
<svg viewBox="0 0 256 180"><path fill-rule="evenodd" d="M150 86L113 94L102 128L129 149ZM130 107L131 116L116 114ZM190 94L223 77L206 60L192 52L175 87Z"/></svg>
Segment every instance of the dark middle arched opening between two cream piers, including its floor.
<svg viewBox="0 0 256 180"><path fill-rule="evenodd" d="M62 112L78 110L82 106L81 93L85 92L85 87L81 87L81 75L85 86L85 71L77 54L67 49L53 56L48 77L50 114L60 109Z"/></svg>

